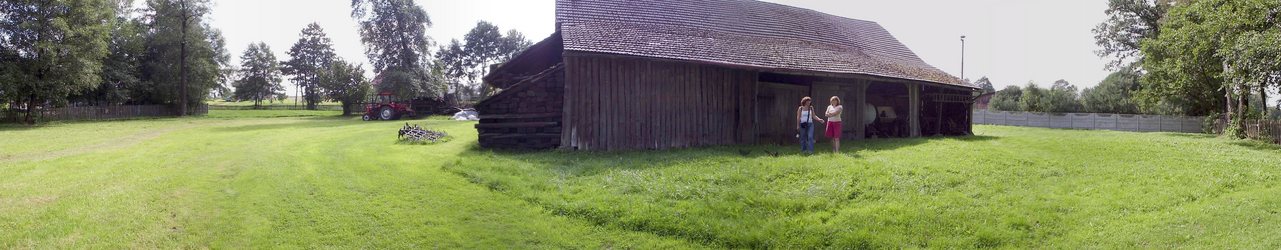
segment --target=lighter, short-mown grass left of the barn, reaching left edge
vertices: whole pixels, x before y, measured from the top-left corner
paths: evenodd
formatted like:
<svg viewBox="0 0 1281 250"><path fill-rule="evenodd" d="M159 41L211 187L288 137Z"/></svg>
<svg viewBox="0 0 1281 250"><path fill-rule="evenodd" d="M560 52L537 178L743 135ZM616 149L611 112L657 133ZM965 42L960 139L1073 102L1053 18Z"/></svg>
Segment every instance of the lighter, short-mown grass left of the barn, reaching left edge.
<svg viewBox="0 0 1281 250"><path fill-rule="evenodd" d="M0 249L690 246L471 185L439 168L471 123L416 123L460 140L400 145L402 123L336 117L3 127L19 154L0 158ZM26 145L64 133L94 141Z"/></svg>

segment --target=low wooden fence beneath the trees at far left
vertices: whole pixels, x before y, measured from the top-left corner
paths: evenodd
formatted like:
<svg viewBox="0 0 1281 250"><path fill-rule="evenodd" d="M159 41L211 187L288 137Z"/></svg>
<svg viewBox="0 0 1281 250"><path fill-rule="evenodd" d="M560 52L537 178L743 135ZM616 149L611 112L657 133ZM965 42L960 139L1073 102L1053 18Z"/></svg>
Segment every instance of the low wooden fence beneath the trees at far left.
<svg viewBox="0 0 1281 250"><path fill-rule="evenodd" d="M190 113L191 115L209 114L209 105L201 105ZM26 117L23 110L0 112L0 121L20 121ZM38 109L33 114L37 121L101 121L101 119L129 119L142 117L177 117L178 109L170 105L110 105L110 106L68 106L54 109Z"/></svg>

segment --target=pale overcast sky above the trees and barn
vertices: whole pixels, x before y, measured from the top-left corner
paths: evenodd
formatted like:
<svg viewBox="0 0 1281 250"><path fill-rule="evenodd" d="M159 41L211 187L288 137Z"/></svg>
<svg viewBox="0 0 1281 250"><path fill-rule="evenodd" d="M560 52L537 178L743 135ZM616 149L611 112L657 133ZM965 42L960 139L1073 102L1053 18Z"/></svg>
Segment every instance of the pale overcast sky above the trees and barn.
<svg viewBox="0 0 1281 250"><path fill-rule="evenodd" d="M434 23L437 42L462 38L478 21L518 29L533 41L555 31L555 0L416 0ZM1067 79L1098 85L1108 72L1094 55L1094 35L1104 0L767 0L840 17L877 22L939 69L961 76L966 38L967 78L988 76L1002 88ZM215 0L213 24L223 31L238 64L250 42L266 42L281 60L298 32L318 22L338 55L368 65L350 0ZM368 67L366 67L368 69ZM291 83L287 83L291 86Z"/></svg>

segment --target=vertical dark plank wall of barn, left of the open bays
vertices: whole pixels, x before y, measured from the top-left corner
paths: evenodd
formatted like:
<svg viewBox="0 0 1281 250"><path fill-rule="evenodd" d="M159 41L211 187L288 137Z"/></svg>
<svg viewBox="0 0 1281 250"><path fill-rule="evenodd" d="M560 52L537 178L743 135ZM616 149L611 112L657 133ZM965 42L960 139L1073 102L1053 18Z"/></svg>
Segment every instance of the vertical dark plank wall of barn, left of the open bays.
<svg viewBox="0 0 1281 250"><path fill-rule="evenodd" d="M757 73L608 55L565 56L561 147L752 144Z"/></svg>

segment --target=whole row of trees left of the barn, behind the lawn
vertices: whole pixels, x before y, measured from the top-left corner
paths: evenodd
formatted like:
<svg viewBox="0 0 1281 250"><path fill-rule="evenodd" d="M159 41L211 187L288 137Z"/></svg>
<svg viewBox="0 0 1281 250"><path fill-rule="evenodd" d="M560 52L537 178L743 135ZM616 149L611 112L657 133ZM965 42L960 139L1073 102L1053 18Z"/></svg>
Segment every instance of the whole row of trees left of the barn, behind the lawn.
<svg viewBox="0 0 1281 250"><path fill-rule="evenodd" d="M232 65L222 32L210 26L211 4L0 1L0 109L23 110L27 122L35 122L33 110L68 105L160 104L186 115L209 97L260 105L284 95L286 79L309 109L336 100L343 114L374 91L475 100L494 91L479 82L489 65L532 45L482 21L464 41L436 47L425 33L430 17L412 0L352 0L374 79L366 79L366 65L338 58L316 23L302 28L287 60L255 42Z"/></svg>

